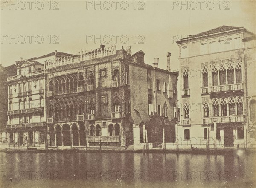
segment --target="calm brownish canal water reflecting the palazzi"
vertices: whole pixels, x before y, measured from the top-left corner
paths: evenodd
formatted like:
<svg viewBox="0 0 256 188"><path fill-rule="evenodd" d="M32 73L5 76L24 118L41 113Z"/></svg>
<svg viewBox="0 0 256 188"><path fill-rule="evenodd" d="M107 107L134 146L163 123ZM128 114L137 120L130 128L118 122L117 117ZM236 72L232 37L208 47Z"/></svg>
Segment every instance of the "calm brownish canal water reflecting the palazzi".
<svg viewBox="0 0 256 188"><path fill-rule="evenodd" d="M0 153L0 187L255 187L256 155Z"/></svg>

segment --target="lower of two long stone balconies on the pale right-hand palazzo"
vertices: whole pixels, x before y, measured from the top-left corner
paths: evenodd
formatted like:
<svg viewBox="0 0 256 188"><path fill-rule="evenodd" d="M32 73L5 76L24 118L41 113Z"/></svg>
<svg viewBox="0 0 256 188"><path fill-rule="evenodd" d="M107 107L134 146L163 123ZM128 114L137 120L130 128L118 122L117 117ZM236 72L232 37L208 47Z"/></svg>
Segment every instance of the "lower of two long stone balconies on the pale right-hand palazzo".
<svg viewBox="0 0 256 188"><path fill-rule="evenodd" d="M233 116L214 116L214 117L206 117L202 118L202 124L212 124L216 123L236 123L236 122L244 122L244 115L233 115Z"/></svg>

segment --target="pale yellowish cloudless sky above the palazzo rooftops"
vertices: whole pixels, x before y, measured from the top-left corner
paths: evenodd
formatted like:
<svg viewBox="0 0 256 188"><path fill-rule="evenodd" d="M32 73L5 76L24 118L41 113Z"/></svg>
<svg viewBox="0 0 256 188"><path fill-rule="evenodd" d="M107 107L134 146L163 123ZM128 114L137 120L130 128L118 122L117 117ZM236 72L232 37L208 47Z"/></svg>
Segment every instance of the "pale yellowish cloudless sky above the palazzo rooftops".
<svg viewBox="0 0 256 188"><path fill-rule="evenodd" d="M163 69L171 52L171 68L178 69L174 40L222 25L256 33L256 1L1 1L0 63L116 43L142 50L147 64L159 58Z"/></svg>

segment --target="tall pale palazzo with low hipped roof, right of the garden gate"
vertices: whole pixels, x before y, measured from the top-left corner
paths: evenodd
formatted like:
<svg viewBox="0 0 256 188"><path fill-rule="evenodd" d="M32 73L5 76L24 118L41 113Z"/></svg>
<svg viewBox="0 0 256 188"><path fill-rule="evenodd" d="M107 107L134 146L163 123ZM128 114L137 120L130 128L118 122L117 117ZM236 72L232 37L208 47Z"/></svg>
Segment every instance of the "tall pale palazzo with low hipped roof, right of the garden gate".
<svg viewBox="0 0 256 188"><path fill-rule="evenodd" d="M244 27L221 26L177 44L182 141L195 138L205 145L215 136L217 122L217 147L244 148L246 140L255 145L255 34Z"/></svg>

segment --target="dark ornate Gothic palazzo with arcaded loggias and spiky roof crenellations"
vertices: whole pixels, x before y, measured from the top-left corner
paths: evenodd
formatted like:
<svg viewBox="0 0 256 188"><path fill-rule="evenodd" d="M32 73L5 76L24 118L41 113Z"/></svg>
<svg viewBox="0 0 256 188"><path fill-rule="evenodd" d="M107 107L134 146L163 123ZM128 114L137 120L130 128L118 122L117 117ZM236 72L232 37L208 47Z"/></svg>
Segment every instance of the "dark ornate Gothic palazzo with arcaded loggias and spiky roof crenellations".
<svg viewBox="0 0 256 188"><path fill-rule="evenodd" d="M153 67L145 64L144 55L131 55L131 46L101 45L47 60L49 147L124 149L134 136L140 141L139 124L149 121L149 114L173 119L177 72L159 69L158 58Z"/></svg>

